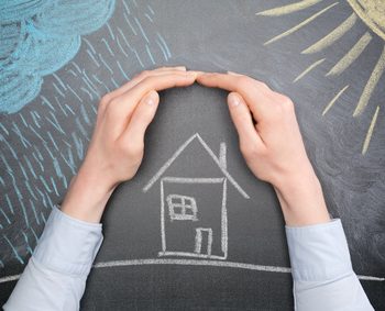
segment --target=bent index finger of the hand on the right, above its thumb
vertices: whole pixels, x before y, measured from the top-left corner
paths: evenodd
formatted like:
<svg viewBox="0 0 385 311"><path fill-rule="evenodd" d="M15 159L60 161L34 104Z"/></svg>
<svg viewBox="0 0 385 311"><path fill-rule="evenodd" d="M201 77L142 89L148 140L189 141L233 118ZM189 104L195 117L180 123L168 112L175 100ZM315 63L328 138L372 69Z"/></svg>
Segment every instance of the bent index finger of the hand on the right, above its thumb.
<svg viewBox="0 0 385 311"><path fill-rule="evenodd" d="M272 104L268 87L257 80L242 75L199 74L197 82L206 87L221 88L242 96L256 121L263 119Z"/></svg>

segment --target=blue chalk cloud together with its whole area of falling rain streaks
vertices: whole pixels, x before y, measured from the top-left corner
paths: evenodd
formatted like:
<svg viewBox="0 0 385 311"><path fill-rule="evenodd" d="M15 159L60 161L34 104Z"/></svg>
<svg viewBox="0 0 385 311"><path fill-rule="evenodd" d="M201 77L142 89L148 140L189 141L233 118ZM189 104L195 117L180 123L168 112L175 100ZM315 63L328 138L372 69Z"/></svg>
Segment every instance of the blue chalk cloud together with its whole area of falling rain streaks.
<svg viewBox="0 0 385 311"><path fill-rule="evenodd" d="M0 3L0 273L31 256L85 156L99 99L172 58L156 23L135 0Z"/></svg>

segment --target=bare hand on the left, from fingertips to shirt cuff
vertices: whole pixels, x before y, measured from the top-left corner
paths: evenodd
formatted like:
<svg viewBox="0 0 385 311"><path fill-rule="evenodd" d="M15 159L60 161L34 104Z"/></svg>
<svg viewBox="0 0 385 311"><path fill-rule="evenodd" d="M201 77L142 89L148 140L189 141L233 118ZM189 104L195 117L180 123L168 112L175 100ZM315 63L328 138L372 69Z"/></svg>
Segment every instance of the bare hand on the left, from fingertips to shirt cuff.
<svg viewBox="0 0 385 311"><path fill-rule="evenodd" d="M156 91L193 85L196 73L185 67L143 71L106 95L85 160L72 180L62 211L80 220L98 222L114 188L131 179L141 165L144 133L153 120Z"/></svg>

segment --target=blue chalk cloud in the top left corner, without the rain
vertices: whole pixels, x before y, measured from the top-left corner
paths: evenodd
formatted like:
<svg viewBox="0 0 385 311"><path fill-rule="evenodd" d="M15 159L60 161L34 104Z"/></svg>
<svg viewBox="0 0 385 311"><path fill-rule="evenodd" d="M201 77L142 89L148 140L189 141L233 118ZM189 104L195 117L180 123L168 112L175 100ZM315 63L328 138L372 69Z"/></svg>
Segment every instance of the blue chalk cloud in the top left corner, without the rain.
<svg viewBox="0 0 385 311"><path fill-rule="evenodd" d="M66 65L80 36L101 27L114 0L0 1L0 113L14 113L40 92L43 77Z"/></svg>

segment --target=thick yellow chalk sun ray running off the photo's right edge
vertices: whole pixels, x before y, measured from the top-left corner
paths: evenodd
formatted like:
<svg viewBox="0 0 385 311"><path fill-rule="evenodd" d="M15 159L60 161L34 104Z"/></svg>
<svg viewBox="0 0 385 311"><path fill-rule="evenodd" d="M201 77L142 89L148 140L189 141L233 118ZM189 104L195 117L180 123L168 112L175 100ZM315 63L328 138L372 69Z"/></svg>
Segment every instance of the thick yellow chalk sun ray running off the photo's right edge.
<svg viewBox="0 0 385 311"><path fill-rule="evenodd" d="M353 116L358 116L364 111L365 107L369 103L369 100L371 99L372 92L374 91L381 76L384 73L384 69L385 69L385 45L384 45L383 52L381 53L381 56L378 57L377 64L375 65L372 71L372 75L369 78L364 90L362 91L359 103L353 112Z"/></svg>

